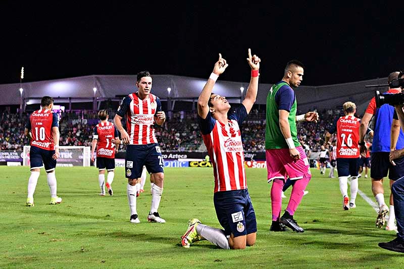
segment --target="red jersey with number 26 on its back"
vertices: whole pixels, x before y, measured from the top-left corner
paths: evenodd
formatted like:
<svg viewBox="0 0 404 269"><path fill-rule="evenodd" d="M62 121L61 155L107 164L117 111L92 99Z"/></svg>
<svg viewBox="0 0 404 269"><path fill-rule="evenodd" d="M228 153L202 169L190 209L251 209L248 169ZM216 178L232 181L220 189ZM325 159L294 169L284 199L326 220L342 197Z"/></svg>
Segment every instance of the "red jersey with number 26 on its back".
<svg viewBox="0 0 404 269"><path fill-rule="evenodd" d="M359 158L361 119L343 116L337 120L337 158Z"/></svg>

